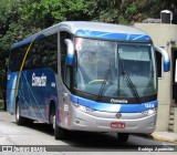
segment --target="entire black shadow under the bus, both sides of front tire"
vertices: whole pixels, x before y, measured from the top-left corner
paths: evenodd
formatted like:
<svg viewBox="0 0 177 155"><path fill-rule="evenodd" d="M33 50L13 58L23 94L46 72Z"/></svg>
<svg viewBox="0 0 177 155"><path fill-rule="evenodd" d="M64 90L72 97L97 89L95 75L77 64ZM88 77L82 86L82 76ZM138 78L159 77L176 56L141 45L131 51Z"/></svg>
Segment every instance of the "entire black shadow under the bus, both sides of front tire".
<svg viewBox="0 0 177 155"><path fill-rule="evenodd" d="M33 123L32 125L25 125L31 130L43 132L50 136L54 135L54 131L51 125L43 123ZM131 135L132 136L132 135ZM53 141L54 136L53 136ZM118 143L116 133L91 133L91 132L67 132L67 136L62 142L70 145L72 148L83 149L133 149L137 148L132 143Z"/></svg>

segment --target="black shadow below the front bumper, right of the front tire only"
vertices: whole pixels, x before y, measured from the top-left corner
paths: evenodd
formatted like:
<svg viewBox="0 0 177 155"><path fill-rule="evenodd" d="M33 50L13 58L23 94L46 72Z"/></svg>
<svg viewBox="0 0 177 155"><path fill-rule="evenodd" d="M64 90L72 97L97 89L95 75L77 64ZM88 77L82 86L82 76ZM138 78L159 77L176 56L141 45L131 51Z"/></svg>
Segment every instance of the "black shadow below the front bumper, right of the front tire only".
<svg viewBox="0 0 177 155"><path fill-rule="evenodd" d="M70 137L64 142L80 148L133 148L128 142L118 143L113 133L70 132Z"/></svg>

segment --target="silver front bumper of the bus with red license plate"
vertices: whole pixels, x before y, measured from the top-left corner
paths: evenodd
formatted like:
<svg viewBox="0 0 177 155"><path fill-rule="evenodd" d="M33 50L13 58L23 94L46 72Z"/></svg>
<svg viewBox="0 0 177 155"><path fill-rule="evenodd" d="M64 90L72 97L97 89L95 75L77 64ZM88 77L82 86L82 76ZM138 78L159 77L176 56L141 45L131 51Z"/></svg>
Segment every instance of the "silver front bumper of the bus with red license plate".
<svg viewBox="0 0 177 155"><path fill-rule="evenodd" d="M153 133L156 127L156 112L147 113L117 113L82 112L71 105L71 125L69 130L87 132L116 133Z"/></svg>

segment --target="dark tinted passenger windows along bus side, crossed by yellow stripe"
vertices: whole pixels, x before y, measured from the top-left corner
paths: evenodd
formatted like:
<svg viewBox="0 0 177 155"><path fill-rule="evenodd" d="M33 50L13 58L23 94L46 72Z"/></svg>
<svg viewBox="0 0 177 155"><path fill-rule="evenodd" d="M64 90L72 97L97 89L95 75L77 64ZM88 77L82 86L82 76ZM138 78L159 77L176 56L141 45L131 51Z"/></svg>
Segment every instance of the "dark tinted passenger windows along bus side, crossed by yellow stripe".
<svg viewBox="0 0 177 155"><path fill-rule="evenodd" d="M19 71L30 44L13 49L10 55L9 69ZM23 70L52 68L58 72L58 34L50 35L43 40L35 40L27 55Z"/></svg>

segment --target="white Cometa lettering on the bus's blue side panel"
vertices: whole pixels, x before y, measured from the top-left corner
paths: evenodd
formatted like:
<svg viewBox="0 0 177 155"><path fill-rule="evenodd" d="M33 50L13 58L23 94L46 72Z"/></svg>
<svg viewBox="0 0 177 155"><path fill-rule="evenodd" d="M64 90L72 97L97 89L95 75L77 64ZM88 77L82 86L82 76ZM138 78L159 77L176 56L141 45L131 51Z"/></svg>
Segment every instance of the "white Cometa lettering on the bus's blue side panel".
<svg viewBox="0 0 177 155"><path fill-rule="evenodd" d="M41 76L37 76L35 73L32 74L32 86L46 86L46 76L44 73Z"/></svg>

